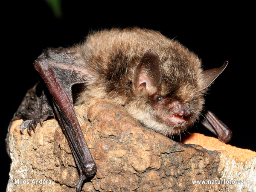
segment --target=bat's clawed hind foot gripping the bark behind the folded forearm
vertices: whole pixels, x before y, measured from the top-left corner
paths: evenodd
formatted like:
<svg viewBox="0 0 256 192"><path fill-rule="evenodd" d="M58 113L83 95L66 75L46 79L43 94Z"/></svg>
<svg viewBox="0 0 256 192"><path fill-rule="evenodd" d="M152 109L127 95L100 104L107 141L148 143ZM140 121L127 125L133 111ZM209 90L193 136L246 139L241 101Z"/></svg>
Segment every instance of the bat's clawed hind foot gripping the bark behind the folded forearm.
<svg viewBox="0 0 256 192"><path fill-rule="evenodd" d="M32 130L35 132L35 127L36 125L40 122L41 126L42 126L42 122L45 121L46 119L48 119L49 117L53 117L55 118L55 115L53 113L53 111L46 111L44 114L38 116L37 118L34 119L29 119L24 121L21 125L20 125L20 132L22 134L24 134L24 129L28 128L28 133L29 135L32 136Z"/></svg>

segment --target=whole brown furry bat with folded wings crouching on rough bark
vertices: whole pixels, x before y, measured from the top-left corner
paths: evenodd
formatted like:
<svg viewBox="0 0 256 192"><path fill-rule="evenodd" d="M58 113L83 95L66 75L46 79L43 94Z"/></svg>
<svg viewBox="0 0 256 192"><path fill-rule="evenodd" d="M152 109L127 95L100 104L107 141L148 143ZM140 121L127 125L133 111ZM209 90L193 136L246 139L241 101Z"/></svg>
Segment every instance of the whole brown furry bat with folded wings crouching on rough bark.
<svg viewBox="0 0 256 192"><path fill-rule="evenodd" d="M34 62L44 82L28 90L12 121L26 119L20 130L32 134L37 123L57 117L79 170L80 192L97 169L74 105L95 97L109 99L143 126L164 135L179 134L198 121L207 88L227 64L203 70L194 53L153 30L91 32L82 44L44 49ZM201 122L222 142L231 139L232 131L211 111Z"/></svg>

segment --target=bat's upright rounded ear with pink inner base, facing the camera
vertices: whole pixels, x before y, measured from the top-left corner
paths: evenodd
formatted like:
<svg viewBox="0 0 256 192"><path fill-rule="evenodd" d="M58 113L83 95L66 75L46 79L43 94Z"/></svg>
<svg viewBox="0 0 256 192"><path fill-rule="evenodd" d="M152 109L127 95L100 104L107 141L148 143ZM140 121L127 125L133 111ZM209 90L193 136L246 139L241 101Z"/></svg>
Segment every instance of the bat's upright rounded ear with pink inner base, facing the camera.
<svg viewBox="0 0 256 192"><path fill-rule="evenodd" d="M133 70L133 92L135 95L156 93L162 81L160 57L149 49Z"/></svg>

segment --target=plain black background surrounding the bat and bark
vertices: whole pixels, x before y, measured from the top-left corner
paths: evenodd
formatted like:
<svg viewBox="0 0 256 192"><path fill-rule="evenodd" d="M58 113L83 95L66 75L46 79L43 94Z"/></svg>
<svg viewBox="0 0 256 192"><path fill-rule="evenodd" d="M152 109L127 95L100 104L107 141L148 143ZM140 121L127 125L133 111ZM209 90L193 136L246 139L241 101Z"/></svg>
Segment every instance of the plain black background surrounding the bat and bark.
<svg viewBox="0 0 256 192"><path fill-rule="evenodd" d="M84 3L82 3L84 2ZM211 109L232 131L229 144L256 151L255 135L255 15L251 4L196 4L161 2L93 3L63 1L61 19L43 0L12 1L3 6L1 31L1 188L6 189L10 160L4 139L9 121L23 96L39 79L33 61L47 47L79 43L89 30L139 26L162 32L191 49L203 61L204 69L226 70L206 96ZM182 1L183 2L183 1ZM214 137L201 125L189 132Z"/></svg>

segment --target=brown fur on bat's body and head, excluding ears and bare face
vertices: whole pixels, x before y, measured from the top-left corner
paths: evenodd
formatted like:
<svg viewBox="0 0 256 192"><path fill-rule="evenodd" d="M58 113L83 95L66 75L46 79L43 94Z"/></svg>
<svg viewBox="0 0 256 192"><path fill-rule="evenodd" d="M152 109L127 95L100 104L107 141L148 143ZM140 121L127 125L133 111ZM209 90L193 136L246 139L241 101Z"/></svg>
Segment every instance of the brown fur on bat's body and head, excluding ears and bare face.
<svg viewBox="0 0 256 192"><path fill-rule="evenodd" d="M160 32L139 29L111 29L92 32L84 44L73 47L89 70L88 83L76 105L93 97L110 99L124 106L143 125L162 134L176 134L192 125L204 104L201 61L177 41ZM160 56L162 83L160 95L191 108L186 124L170 125L159 116L168 115L165 106L153 105L149 96L135 96L132 90L134 67L149 49ZM170 103L169 102L169 103Z"/></svg>

